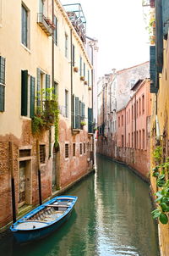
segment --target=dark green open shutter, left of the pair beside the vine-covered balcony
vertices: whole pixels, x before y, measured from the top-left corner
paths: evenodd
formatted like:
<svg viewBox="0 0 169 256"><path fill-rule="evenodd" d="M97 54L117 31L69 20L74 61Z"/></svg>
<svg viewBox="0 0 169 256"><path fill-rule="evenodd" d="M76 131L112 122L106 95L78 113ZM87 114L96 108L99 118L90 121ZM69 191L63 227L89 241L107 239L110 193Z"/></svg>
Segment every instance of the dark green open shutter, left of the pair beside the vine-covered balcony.
<svg viewBox="0 0 169 256"><path fill-rule="evenodd" d="M28 70L21 71L21 115L28 114Z"/></svg>

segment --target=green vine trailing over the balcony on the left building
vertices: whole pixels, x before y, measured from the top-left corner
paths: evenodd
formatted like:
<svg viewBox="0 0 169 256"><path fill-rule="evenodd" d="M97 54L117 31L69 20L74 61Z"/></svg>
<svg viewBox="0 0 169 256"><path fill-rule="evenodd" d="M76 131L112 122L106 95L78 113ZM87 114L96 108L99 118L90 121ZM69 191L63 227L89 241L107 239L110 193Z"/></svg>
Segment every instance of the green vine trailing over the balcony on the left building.
<svg viewBox="0 0 169 256"><path fill-rule="evenodd" d="M36 101L38 107L32 118L32 133L38 135L42 130L49 130L52 125L55 127L55 147L58 146L58 122L59 109L57 96L52 94L53 88L42 89L37 93ZM41 100L40 100L41 99Z"/></svg>

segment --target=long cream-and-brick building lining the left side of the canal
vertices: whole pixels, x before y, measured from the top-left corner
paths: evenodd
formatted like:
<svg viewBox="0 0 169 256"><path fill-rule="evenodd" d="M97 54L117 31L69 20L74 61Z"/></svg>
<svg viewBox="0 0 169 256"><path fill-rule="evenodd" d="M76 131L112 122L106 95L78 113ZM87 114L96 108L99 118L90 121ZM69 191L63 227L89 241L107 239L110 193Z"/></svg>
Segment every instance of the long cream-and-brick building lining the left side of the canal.
<svg viewBox="0 0 169 256"><path fill-rule="evenodd" d="M93 66L72 17L57 0L0 0L1 230L93 169ZM33 132L56 98L58 123L46 112Z"/></svg>

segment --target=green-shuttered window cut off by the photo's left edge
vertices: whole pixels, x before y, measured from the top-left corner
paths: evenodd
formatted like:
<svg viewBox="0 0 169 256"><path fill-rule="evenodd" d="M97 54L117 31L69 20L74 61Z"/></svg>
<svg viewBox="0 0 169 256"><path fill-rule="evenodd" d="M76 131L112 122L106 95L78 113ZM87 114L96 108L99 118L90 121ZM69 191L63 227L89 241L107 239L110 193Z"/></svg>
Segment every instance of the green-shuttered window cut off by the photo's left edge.
<svg viewBox="0 0 169 256"><path fill-rule="evenodd" d="M5 101L5 58L0 56L0 111L4 111Z"/></svg>

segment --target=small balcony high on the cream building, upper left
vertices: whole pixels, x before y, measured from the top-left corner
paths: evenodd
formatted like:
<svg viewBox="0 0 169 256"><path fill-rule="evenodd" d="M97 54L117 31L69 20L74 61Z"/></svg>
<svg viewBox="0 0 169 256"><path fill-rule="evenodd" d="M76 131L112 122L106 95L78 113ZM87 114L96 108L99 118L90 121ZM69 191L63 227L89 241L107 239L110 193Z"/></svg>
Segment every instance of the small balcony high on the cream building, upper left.
<svg viewBox="0 0 169 256"><path fill-rule="evenodd" d="M52 36L53 25L50 19L47 19L44 14L37 14L37 23L41 26L41 29L45 31L47 36Z"/></svg>

